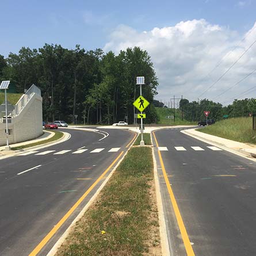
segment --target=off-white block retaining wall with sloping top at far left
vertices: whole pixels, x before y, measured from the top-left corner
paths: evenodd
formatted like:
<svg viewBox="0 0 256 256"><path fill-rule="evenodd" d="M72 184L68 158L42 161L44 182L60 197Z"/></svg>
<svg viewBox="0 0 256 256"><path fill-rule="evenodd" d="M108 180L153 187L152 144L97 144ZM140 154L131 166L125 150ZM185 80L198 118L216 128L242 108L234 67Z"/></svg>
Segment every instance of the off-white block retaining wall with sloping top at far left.
<svg viewBox="0 0 256 256"><path fill-rule="evenodd" d="M6 145L5 127L6 124L0 123L0 146ZM35 139L43 134L43 110L40 95L33 94L20 114L12 118L12 124L8 124L8 129L11 129L9 144Z"/></svg>

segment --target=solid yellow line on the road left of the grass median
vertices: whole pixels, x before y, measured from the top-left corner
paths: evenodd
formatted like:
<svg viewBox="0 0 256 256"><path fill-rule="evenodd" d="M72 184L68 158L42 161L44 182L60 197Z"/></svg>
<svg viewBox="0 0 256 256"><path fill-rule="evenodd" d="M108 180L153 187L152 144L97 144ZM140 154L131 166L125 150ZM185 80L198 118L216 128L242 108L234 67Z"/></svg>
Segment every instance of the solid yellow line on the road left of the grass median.
<svg viewBox="0 0 256 256"><path fill-rule="evenodd" d="M117 156L116 159L114 159L114 161L111 163L111 165L104 171L104 173L102 173L100 175L100 177L98 177L98 179L94 182L93 185L90 186L90 188L78 199L77 202L75 202L75 204L72 206L72 208L70 208L70 210L62 217L62 219L56 224L56 226L54 226L54 228L52 228L51 231L49 231L49 233L44 237L43 240L41 240L41 242L36 246L36 248L32 251L32 253L29 254L29 256L36 256L37 253L39 253L39 251L45 246L45 244L49 241L49 239L52 238L52 236L59 230L59 228L63 225L63 223L68 219L68 217L70 217L70 215L75 211L75 209L78 208L78 206L81 204L81 202L85 199L85 197L91 192L91 190L93 190L93 188L98 184L98 182L100 182L100 180L102 179L102 177L104 177L104 175L106 173L108 173L108 171L112 168L112 166L118 161L118 159L120 158L121 155L123 155L124 151L122 151L119 156Z"/></svg>

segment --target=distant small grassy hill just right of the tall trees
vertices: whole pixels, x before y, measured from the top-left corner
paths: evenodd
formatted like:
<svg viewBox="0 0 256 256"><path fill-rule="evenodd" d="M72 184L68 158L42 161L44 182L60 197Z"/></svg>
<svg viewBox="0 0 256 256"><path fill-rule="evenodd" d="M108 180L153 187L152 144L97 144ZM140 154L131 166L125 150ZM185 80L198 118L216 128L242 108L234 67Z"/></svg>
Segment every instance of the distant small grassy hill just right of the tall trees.
<svg viewBox="0 0 256 256"><path fill-rule="evenodd" d="M174 115L173 109L159 108L159 107L156 107L155 109L159 118L158 124L165 124L165 125L196 124L186 120L182 121L181 111L179 109L175 109L175 122L174 122L174 119L166 119L166 116Z"/></svg>

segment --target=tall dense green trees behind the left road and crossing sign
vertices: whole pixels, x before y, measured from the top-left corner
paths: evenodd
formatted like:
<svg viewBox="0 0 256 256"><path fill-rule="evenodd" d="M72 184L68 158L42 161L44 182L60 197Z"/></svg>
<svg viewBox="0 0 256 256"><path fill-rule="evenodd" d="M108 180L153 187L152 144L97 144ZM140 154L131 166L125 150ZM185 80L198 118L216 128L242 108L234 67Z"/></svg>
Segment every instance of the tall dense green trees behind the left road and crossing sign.
<svg viewBox="0 0 256 256"><path fill-rule="evenodd" d="M41 89L43 119L90 124L133 123L133 101L139 96L136 77L144 76L143 96L152 102L158 79L146 51L127 48L115 55L102 49L86 51L57 44L39 49L22 47L18 54L0 55L0 79L10 80L17 93L33 83ZM147 123L157 120L153 104L146 109Z"/></svg>

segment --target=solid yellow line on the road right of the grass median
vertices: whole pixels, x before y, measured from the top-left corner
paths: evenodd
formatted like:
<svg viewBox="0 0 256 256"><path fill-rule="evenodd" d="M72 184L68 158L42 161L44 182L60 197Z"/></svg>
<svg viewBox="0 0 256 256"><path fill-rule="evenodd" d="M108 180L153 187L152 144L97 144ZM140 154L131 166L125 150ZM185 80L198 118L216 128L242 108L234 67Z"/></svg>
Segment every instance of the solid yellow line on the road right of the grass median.
<svg viewBox="0 0 256 256"><path fill-rule="evenodd" d="M153 132L153 135L154 135L154 138L155 138L156 146L159 147L158 141L156 140L156 137L155 137L155 132ZM167 186L167 190L169 192L169 196L170 196L170 199L171 199L171 204L173 205L175 217L176 217L177 222L178 222L179 231L181 231L181 236L182 236L182 240L184 242L186 253L187 253L188 256L194 256L194 251L193 251L192 245L191 245L190 240L189 240L188 232L186 231L184 221L182 220L181 213L179 212L178 204L177 204L177 201L175 199L173 189L171 189L171 185L170 185L170 182L169 182L169 179L167 177L166 170L165 170L165 165L163 164L161 151L159 151L159 150L158 150L158 155L159 155L159 160L160 160L162 171L163 171L163 177L165 177L165 183L166 183L166 186Z"/></svg>

